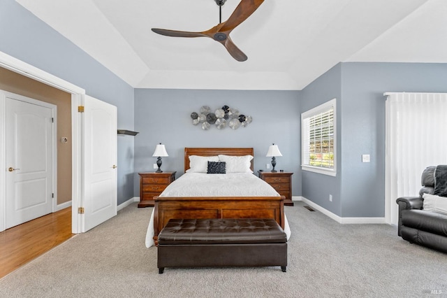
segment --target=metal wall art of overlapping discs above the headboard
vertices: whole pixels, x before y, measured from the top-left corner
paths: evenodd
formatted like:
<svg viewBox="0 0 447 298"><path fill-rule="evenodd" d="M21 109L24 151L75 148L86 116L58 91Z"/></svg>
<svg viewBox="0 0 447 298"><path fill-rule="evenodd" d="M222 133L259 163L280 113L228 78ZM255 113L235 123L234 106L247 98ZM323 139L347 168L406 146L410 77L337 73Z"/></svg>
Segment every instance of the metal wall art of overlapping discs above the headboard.
<svg viewBox="0 0 447 298"><path fill-rule="evenodd" d="M253 120L251 116L242 115L236 108L223 106L212 112L209 106L200 108L199 113L191 113L193 125L202 125L203 130L208 130L212 125L217 129L224 129L227 125L232 129L247 127Z"/></svg>

